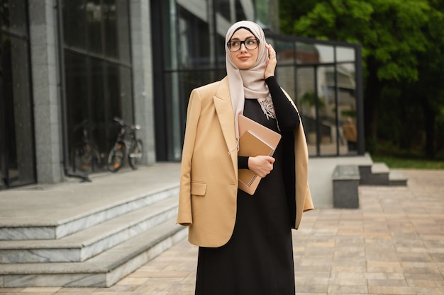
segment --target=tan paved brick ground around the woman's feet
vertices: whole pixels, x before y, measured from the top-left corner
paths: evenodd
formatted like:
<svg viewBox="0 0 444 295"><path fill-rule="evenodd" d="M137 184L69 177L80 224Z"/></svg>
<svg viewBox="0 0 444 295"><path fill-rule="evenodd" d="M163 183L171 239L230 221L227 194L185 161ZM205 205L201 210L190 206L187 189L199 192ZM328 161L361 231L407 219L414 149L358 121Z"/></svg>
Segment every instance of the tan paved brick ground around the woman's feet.
<svg viewBox="0 0 444 295"><path fill-rule="evenodd" d="M444 170L401 172L408 187L360 187L360 209L304 214L294 231L298 295L444 294ZM111 288L0 295L192 295L196 257L182 241Z"/></svg>

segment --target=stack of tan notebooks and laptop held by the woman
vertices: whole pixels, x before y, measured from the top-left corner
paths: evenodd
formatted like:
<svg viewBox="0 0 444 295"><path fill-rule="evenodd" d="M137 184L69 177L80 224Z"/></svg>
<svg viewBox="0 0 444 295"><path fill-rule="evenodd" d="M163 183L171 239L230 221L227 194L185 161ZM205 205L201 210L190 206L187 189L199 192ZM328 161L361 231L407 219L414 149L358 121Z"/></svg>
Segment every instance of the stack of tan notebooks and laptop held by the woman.
<svg viewBox="0 0 444 295"><path fill-rule="evenodd" d="M244 115L238 116L239 120L239 156L272 156L281 134L272 129L260 125ZM240 190L253 195L261 178L252 170L238 170L238 187Z"/></svg>

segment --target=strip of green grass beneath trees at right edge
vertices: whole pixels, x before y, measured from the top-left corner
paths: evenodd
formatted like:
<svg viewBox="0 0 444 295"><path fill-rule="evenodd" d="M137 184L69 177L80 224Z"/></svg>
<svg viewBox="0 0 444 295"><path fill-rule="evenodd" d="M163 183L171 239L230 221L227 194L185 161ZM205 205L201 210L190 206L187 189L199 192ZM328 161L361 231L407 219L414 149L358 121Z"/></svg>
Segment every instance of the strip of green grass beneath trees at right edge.
<svg viewBox="0 0 444 295"><path fill-rule="evenodd" d="M406 157L406 156L384 156L384 155L372 155L374 162L383 162L389 168L399 169L431 169L431 170L443 170L444 159L438 160L425 160L423 158Z"/></svg>

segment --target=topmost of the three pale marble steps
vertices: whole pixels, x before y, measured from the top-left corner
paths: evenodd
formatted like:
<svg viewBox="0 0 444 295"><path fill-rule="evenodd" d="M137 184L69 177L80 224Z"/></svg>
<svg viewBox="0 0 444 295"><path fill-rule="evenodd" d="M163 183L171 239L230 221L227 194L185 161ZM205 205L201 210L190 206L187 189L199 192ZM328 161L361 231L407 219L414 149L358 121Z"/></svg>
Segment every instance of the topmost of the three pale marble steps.
<svg viewBox="0 0 444 295"><path fill-rule="evenodd" d="M104 202L101 207L93 207L82 214L65 216L62 220L42 222L35 219L28 220L26 224L4 222L0 225L0 241L59 239L178 194L179 187L175 184L145 195L132 196L131 199Z"/></svg>

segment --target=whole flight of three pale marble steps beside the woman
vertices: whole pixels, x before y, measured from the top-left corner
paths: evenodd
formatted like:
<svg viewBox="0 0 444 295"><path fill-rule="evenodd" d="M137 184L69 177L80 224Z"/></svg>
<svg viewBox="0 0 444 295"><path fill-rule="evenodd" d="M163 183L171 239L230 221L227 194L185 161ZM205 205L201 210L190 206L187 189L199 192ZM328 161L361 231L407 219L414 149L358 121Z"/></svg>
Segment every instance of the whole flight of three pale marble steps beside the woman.
<svg viewBox="0 0 444 295"><path fill-rule="evenodd" d="M2 224L0 287L112 286L187 235L178 194L165 183L53 224Z"/></svg>

